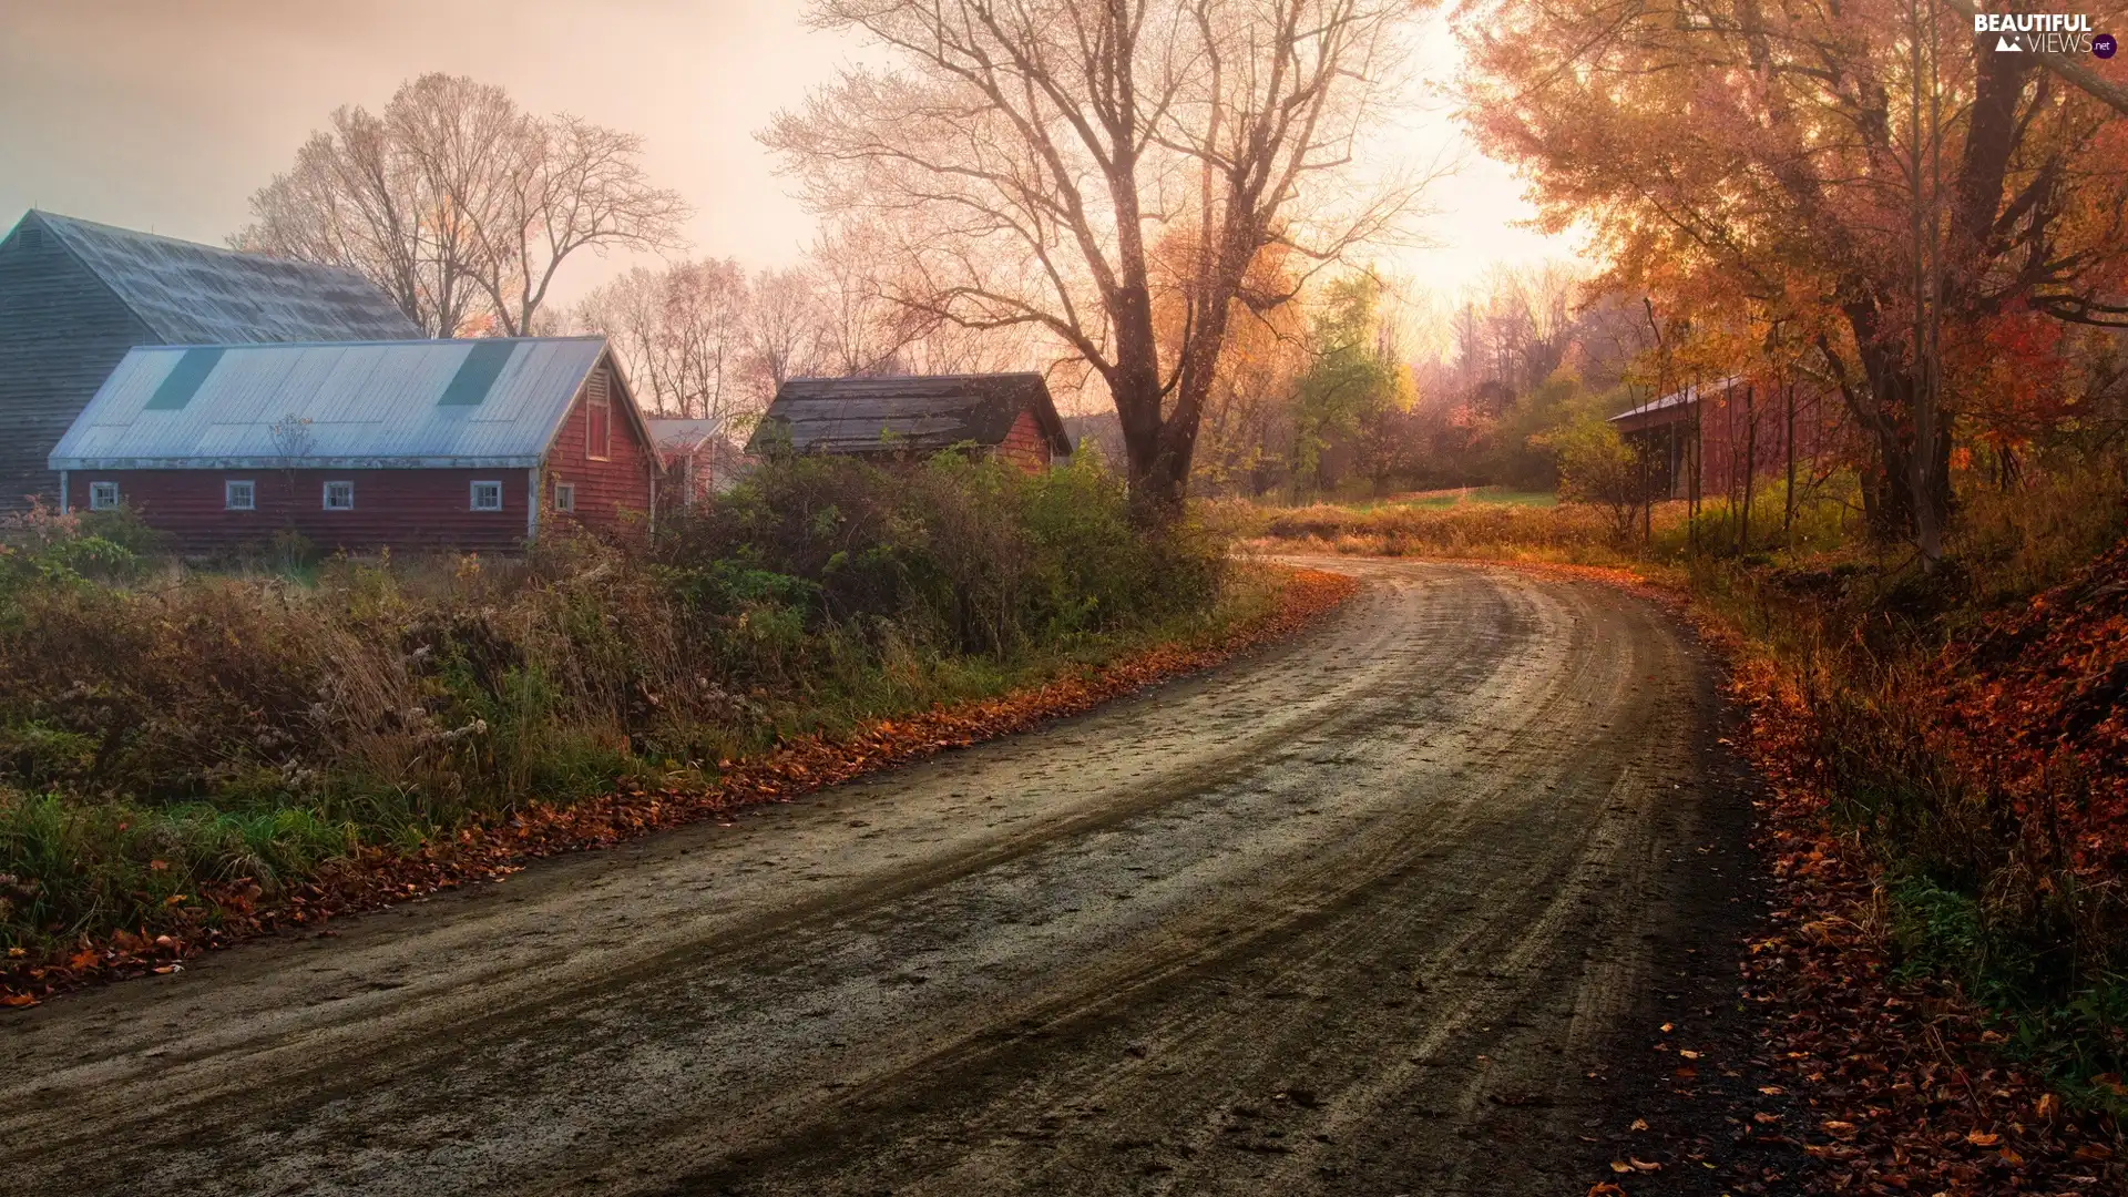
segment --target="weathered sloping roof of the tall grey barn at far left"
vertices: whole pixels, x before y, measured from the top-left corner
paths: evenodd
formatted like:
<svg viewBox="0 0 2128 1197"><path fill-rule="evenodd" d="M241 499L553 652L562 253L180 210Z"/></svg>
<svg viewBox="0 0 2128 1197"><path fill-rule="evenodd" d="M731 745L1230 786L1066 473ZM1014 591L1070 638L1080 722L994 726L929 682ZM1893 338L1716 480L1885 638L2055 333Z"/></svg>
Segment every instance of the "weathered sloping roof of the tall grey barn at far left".
<svg viewBox="0 0 2128 1197"><path fill-rule="evenodd" d="M381 290L353 270L236 253L43 211L23 217L32 219L170 345L421 337Z"/></svg>

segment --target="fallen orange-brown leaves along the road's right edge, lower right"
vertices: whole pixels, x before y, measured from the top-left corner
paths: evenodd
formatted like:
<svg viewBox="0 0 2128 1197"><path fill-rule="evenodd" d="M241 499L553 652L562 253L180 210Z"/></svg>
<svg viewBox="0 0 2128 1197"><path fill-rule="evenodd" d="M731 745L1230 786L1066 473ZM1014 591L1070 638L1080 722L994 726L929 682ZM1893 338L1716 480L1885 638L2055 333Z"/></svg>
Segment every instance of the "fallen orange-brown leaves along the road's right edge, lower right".
<svg viewBox="0 0 2128 1197"><path fill-rule="evenodd" d="M1745 995L1762 1059L1807 1110L1779 1133L1815 1159L1809 1191L2124 1191L2117 1125L2068 1116L1954 986L1892 975L1877 871L1832 831L1811 775L1809 709L1768 662L1732 658L1745 752L1770 788L1760 848L1777 903L1743 963Z"/></svg>

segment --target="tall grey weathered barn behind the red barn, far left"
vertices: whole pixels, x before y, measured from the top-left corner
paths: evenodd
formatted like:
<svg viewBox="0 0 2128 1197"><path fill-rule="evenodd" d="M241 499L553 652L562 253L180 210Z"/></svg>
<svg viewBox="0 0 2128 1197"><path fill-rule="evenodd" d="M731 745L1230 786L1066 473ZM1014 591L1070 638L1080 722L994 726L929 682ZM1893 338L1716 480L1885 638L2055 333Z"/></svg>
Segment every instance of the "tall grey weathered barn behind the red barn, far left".
<svg viewBox="0 0 2128 1197"><path fill-rule="evenodd" d="M347 270L32 211L0 241L0 511L57 501L45 458L136 345L419 334Z"/></svg>

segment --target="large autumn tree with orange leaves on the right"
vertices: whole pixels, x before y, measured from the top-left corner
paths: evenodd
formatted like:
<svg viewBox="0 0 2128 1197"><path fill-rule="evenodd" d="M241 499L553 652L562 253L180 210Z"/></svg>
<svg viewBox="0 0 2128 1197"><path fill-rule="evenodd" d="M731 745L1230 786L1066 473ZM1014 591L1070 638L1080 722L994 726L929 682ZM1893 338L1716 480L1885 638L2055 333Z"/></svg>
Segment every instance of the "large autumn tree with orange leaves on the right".
<svg viewBox="0 0 2128 1197"><path fill-rule="evenodd" d="M1547 224L1592 226L1613 288L1815 345L1871 443L1873 528L1924 560L1958 424L2000 398L1975 366L2062 322L2128 324L2128 121L1951 9L1500 0L1466 17L1470 119Z"/></svg>

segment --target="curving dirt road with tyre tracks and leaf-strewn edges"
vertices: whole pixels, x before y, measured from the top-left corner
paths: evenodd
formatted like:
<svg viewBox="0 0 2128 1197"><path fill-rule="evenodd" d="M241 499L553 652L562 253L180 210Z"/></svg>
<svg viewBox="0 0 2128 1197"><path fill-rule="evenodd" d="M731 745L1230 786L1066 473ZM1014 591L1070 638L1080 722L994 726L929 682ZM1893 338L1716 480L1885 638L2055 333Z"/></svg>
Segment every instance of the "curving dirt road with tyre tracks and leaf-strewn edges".
<svg viewBox="0 0 2128 1197"><path fill-rule="evenodd" d="M1707 669L1596 584L1330 569L1092 716L4 1018L0 1188L1581 1193L1734 903Z"/></svg>

